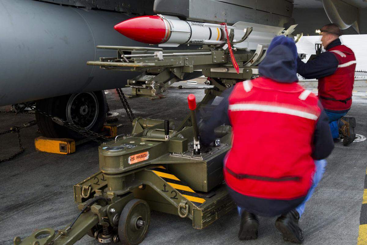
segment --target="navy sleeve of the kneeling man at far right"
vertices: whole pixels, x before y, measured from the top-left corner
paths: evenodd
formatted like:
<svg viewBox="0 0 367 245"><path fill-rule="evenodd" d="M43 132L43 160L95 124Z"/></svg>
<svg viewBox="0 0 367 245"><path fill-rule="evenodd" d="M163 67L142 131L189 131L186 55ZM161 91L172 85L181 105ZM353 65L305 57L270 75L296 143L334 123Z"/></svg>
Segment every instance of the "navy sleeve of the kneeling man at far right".
<svg viewBox="0 0 367 245"><path fill-rule="evenodd" d="M306 79L319 79L332 75L338 68L338 59L331 52L324 52L304 63L297 58L297 73Z"/></svg>

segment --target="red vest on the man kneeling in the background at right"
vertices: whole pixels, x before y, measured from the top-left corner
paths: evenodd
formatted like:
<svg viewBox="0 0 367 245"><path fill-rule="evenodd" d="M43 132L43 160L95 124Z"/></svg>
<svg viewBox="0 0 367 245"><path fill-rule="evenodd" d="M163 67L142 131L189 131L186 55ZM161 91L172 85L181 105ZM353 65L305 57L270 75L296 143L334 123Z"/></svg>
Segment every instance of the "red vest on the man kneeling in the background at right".
<svg viewBox="0 0 367 245"><path fill-rule="evenodd" d="M349 109L352 105L356 57L353 51L344 45L330 48L327 52L337 57L339 65L333 75L319 79L319 99L325 109Z"/></svg>

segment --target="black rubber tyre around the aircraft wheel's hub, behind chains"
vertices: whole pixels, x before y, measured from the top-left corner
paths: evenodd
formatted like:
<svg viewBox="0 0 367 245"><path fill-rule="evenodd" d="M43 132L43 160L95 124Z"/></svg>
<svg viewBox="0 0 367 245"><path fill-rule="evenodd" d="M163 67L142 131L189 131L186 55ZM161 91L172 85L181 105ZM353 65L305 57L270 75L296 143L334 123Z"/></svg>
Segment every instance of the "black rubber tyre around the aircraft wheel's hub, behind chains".
<svg viewBox="0 0 367 245"><path fill-rule="evenodd" d="M104 91L94 91L90 93L80 93L80 94L68 94L64 96L57 96L52 98L47 98L43 100L36 101L36 108L40 109L43 112L46 112L47 114L50 114L52 116L57 116L63 120L67 120L67 112L66 108L68 105L68 101L72 96L78 96L83 95L87 96L87 94L93 96L93 98L96 98L98 101L98 115L95 117L94 112L97 112L97 103L94 104L96 108L94 108L94 112L92 112L94 123L91 122L89 127L89 130L92 130L94 132L101 131L103 127L103 123L106 119L106 113L107 113L107 101ZM57 123L53 122L51 118L44 116L40 114L39 112L36 112L36 120L38 128L40 129L43 136L48 138L72 138L72 139L80 139L83 138L83 136L73 130L67 129L66 127L60 126ZM70 122L70 120L69 120ZM73 122L75 123L75 122ZM76 123L78 125L78 123ZM83 125L78 125L83 126ZM84 126L83 126L84 127Z"/></svg>

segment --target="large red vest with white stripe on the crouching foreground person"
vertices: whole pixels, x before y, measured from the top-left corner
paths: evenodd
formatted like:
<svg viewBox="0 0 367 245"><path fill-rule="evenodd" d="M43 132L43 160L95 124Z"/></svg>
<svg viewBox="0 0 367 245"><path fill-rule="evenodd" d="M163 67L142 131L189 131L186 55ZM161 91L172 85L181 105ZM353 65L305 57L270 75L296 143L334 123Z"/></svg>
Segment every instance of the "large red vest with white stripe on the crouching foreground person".
<svg viewBox="0 0 367 245"><path fill-rule="evenodd" d="M317 102L295 82L237 83L228 108L233 130L224 167L228 186L250 197L304 197L315 171L311 144L321 112Z"/></svg>

